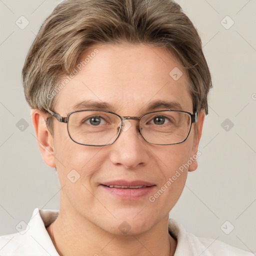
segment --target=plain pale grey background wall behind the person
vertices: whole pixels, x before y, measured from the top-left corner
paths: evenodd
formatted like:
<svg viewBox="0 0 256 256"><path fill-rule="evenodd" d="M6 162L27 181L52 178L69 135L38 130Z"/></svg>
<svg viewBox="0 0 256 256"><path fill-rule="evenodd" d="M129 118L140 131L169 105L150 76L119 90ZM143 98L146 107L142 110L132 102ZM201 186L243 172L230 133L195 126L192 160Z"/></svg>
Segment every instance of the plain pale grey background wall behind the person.
<svg viewBox="0 0 256 256"><path fill-rule="evenodd" d="M42 21L59 2L0 0L0 235L17 232L15 226L21 220L28 222L35 207L59 207L57 175L41 158L20 74ZM214 88L199 144L198 168L188 174L170 217L197 236L217 238L255 253L256 2L177 2L199 31ZM29 21L24 29L15 24L21 15ZM227 15L234 21L230 28ZM19 129L22 118L28 125L23 131ZM231 224L222 225L226 220ZM234 229L229 234L221 230L222 226L228 232L231 225Z"/></svg>

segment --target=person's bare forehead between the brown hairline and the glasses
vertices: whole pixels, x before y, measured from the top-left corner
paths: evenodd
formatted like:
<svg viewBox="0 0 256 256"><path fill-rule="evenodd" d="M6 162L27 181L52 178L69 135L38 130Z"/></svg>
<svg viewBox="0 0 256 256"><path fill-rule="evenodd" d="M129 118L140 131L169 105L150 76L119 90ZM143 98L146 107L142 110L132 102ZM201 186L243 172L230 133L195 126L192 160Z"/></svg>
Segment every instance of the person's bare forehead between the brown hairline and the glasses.
<svg viewBox="0 0 256 256"><path fill-rule="evenodd" d="M164 107L157 106L157 101L192 111L184 69L163 48L95 44L84 52L73 73L72 78L63 77L68 78L66 85L57 93L54 109L61 114L93 104L122 115L142 114L149 107L154 110L152 106ZM164 108L168 108L167 104Z"/></svg>

